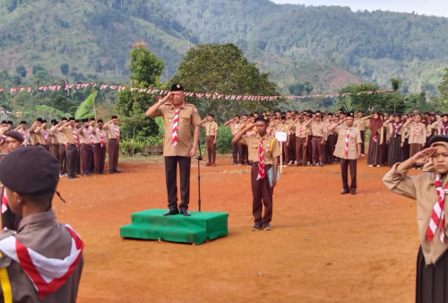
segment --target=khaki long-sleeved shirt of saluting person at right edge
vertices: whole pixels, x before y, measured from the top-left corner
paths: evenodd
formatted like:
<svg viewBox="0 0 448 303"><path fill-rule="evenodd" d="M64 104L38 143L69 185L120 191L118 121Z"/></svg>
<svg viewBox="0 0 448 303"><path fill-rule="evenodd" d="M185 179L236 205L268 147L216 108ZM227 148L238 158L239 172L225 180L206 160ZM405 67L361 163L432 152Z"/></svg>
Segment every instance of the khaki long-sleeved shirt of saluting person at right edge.
<svg viewBox="0 0 448 303"><path fill-rule="evenodd" d="M435 173L424 172L417 176L407 176L408 171L397 171L396 163L392 169L383 177L383 183L392 192L407 196L411 199L417 200L417 224L418 224L418 238L422 247L423 255L425 256L426 264L435 264L440 256L442 256L448 248L448 241L446 241L446 234L448 231L448 220L445 218L445 243L440 241L440 230L435 230L433 243L426 238L426 230L429 226L429 220L433 212L435 203L437 202L437 195L435 193ZM442 186L446 185L447 177L442 178ZM447 203L445 203L445 212L447 212Z"/></svg>

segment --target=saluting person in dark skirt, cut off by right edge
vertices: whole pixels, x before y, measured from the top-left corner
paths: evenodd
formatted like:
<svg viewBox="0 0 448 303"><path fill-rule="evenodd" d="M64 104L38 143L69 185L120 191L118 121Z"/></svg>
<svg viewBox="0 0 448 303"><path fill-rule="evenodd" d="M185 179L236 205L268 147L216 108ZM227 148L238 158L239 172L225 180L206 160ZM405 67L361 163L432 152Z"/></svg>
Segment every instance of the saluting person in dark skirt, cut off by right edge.
<svg viewBox="0 0 448 303"><path fill-rule="evenodd" d="M448 192L448 137L435 135L429 148L396 163L383 177L392 192L417 200L418 238L416 302L446 302L448 240L445 219ZM425 165L417 176L408 170Z"/></svg>

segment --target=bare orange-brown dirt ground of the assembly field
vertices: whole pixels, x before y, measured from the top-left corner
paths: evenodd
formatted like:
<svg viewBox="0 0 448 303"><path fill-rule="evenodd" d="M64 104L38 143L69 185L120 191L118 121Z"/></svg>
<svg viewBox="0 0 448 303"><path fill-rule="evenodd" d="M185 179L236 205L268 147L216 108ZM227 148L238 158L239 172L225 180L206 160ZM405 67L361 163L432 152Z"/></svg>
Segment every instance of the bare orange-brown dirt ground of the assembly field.
<svg viewBox="0 0 448 303"><path fill-rule="evenodd" d="M416 206L392 194L388 168L358 161L358 195L340 195L340 167L288 167L271 231L251 231L249 167L201 165L203 212L228 212L228 237L199 246L120 238L131 213L166 208L162 158L123 161L122 174L61 178L58 221L85 243L78 302L411 302ZM416 173L412 171L411 173ZM190 210L197 211L197 160Z"/></svg>

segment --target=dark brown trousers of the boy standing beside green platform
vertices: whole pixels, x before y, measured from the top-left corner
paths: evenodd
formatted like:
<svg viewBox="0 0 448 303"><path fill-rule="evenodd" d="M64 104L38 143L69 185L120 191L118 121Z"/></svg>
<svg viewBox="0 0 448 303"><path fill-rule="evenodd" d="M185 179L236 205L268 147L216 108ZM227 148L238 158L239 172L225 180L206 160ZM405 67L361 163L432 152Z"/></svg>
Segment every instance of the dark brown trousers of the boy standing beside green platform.
<svg viewBox="0 0 448 303"><path fill-rule="evenodd" d="M252 214L255 223L269 223L272 220L272 187L269 185L268 169L271 165L264 165L266 176L257 180L258 164L254 163L251 169L251 185L252 185ZM262 203L263 201L263 203ZM264 204L264 214L262 217Z"/></svg>

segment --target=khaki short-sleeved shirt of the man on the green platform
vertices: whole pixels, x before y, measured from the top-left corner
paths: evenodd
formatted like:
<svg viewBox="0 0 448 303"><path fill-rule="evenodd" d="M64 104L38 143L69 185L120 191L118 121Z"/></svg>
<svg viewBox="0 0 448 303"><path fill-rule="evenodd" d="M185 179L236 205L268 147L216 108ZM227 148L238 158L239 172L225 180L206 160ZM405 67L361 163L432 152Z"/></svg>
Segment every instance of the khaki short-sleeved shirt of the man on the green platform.
<svg viewBox="0 0 448 303"><path fill-rule="evenodd" d="M175 108L172 104L161 105L154 117L163 117L165 125L165 137L163 143L163 155L165 157L182 156L190 157L192 149L192 126L201 126L202 119L193 104L183 104L179 111L177 123L177 145L173 146L173 119Z"/></svg>

